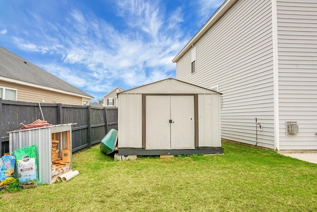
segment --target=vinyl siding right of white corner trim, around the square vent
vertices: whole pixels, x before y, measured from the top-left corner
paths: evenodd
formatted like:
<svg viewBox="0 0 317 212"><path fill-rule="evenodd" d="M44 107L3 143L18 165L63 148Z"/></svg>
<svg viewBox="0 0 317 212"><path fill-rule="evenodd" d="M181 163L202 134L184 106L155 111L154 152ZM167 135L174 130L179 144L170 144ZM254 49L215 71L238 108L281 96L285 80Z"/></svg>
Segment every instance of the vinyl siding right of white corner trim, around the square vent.
<svg viewBox="0 0 317 212"><path fill-rule="evenodd" d="M277 35L280 150L316 150L316 1L277 0ZM286 135L286 121L297 121L297 135Z"/></svg>

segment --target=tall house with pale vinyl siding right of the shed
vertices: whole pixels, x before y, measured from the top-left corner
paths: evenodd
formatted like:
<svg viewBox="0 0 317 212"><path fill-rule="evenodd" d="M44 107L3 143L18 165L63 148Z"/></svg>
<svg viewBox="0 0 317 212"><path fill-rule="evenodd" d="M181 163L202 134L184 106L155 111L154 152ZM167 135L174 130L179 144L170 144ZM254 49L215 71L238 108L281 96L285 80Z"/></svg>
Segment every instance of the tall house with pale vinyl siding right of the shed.
<svg viewBox="0 0 317 212"><path fill-rule="evenodd" d="M173 62L223 94L222 139L317 151L316 0L226 0Z"/></svg>

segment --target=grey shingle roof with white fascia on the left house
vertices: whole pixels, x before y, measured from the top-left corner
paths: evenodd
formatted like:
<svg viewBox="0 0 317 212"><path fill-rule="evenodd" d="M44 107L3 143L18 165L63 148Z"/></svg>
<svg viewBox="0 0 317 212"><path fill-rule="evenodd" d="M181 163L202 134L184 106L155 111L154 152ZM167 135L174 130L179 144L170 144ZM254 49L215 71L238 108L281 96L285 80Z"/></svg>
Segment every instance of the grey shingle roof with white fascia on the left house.
<svg viewBox="0 0 317 212"><path fill-rule="evenodd" d="M94 99L93 96L3 47L0 47L0 55L0 80Z"/></svg>

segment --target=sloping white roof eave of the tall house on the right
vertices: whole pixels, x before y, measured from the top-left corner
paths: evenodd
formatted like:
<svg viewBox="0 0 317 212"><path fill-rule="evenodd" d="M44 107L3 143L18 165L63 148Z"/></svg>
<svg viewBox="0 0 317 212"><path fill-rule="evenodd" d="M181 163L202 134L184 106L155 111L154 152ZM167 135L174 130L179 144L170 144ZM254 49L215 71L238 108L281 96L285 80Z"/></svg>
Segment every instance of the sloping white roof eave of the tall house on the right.
<svg viewBox="0 0 317 212"><path fill-rule="evenodd" d="M211 18L204 24L204 26L196 33L196 35L186 44L186 46L172 59L173 62L177 62L188 50L190 50L196 43L207 33L207 31L224 15L230 7L237 0L226 0L218 8L218 10L211 16Z"/></svg>

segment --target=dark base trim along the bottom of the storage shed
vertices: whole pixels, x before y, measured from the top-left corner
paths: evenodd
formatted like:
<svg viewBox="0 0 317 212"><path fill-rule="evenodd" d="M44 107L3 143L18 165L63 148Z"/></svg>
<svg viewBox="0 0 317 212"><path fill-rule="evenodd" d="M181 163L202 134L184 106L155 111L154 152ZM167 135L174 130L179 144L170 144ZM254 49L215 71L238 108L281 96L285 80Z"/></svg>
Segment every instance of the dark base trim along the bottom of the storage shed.
<svg viewBox="0 0 317 212"><path fill-rule="evenodd" d="M196 149L147 150L142 148L119 148L119 156L159 156L159 155L216 155L223 154L221 147L199 147Z"/></svg>

